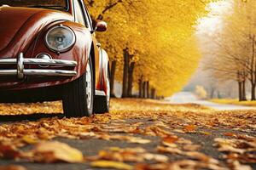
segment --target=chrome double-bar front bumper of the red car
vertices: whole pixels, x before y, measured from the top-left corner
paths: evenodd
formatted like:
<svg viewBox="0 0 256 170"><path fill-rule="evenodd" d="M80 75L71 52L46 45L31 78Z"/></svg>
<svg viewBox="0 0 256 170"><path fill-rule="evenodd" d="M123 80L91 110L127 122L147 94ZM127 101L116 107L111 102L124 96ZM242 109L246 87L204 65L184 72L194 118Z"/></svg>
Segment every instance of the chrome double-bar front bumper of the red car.
<svg viewBox="0 0 256 170"><path fill-rule="evenodd" d="M50 77L73 77L77 75L77 71L65 70L49 70L49 69L25 69L24 65L59 65L75 67L78 65L76 61L62 60L62 59L24 59L23 54L20 53L18 59L0 59L1 65L17 65L15 70L1 70L1 76L17 76L23 78L25 76L50 76Z"/></svg>

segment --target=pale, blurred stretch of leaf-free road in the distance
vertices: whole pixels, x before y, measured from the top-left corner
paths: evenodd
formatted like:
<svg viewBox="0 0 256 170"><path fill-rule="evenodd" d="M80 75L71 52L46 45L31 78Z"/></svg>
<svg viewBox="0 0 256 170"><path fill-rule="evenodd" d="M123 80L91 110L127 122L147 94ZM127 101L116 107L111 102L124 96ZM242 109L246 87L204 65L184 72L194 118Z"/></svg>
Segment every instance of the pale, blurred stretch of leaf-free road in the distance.
<svg viewBox="0 0 256 170"><path fill-rule="evenodd" d="M198 99L195 94L192 94L190 92L180 92L177 94L172 95L171 98L167 99L173 104L198 104L198 105L204 105L207 107L210 107L212 109L218 110L218 111L232 111L232 110L252 110L254 107L249 106L242 106L242 105L222 105L213 103L207 100L200 100Z"/></svg>

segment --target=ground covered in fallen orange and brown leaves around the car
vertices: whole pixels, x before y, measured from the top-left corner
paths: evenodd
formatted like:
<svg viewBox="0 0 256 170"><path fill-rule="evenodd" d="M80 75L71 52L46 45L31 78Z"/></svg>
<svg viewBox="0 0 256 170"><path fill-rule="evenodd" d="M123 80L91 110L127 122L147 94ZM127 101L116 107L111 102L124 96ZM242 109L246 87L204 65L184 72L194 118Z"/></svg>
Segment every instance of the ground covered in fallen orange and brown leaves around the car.
<svg viewBox="0 0 256 170"><path fill-rule="evenodd" d="M67 119L61 103L0 105L0 170L256 169L256 112L113 99Z"/></svg>

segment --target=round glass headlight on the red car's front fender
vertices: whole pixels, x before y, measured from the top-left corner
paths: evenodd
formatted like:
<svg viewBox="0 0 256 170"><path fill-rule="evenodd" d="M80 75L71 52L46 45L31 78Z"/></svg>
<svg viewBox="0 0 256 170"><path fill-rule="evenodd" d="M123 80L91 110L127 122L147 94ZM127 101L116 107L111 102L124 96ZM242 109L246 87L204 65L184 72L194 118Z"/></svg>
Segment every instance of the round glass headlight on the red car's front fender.
<svg viewBox="0 0 256 170"><path fill-rule="evenodd" d="M55 52L65 52L75 43L76 37L67 26L54 26L47 32L45 42L48 48Z"/></svg>

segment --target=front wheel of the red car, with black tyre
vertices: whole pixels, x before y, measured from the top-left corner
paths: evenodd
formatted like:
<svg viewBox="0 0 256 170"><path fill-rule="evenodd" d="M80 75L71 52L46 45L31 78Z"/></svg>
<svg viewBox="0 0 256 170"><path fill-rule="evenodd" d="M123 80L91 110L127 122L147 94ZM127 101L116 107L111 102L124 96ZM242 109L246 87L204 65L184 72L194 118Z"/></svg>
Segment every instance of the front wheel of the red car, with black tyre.
<svg viewBox="0 0 256 170"><path fill-rule="evenodd" d="M67 117L91 116L94 102L94 79L91 59L79 79L67 83L63 92L63 111Z"/></svg>

